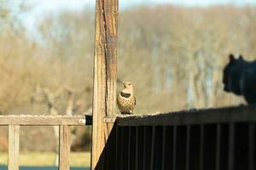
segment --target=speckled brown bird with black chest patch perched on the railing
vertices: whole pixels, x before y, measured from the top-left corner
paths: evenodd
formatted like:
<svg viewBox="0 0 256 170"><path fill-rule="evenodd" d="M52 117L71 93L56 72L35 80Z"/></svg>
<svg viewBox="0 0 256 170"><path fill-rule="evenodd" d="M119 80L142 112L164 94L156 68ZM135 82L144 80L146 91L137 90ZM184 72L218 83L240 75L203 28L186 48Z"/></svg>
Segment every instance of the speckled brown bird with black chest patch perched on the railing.
<svg viewBox="0 0 256 170"><path fill-rule="evenodd" d="M133 92L133 85L131 82L122 82L124 89L119 92L117 96L117 105L121 114L131 115L136 105L136 98Z"/></svg>

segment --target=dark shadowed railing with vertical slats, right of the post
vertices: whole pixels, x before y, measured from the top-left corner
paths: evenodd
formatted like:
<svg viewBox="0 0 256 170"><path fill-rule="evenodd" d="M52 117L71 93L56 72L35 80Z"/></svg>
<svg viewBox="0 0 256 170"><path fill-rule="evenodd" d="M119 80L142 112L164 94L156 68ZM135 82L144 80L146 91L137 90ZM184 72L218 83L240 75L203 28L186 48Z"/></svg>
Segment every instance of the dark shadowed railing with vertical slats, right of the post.
<svg viewBox="0 0 256 170"><path fill-rule="evenodd" d="M120 116L104 150L107 167L254 170L255 127L256 106Z"/></svg>

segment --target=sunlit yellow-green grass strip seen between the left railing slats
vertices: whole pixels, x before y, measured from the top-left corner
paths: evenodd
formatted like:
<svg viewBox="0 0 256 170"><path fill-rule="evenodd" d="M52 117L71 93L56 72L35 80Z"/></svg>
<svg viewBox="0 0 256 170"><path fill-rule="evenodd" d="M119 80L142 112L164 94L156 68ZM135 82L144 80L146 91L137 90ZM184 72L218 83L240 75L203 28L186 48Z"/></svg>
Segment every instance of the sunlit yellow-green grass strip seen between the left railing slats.
<svg viewBox="0 0 256 170"><path fill-rule="evenodd" d="M6 165L8 154L0 153L0 165ZM20 166L54 166L54 152L20 153ZM90 167L90 152L72 152L70 156L72 167Z"/></svg>

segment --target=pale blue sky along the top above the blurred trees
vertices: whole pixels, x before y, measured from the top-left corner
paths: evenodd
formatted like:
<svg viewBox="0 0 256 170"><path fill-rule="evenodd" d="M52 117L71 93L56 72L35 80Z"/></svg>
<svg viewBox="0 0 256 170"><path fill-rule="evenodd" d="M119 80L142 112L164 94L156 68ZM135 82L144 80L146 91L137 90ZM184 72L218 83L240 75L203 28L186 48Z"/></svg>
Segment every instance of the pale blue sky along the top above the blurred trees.
<svg viewBox="0 0 256 170"><path fill-rule="evenodd" d="M26 28L32 31L38 20L44 17L44 14L55 13L63 9L76 11L85 7L94 8L96 0L26 0L26 3L32 8L24 15L23 22ZM256 0L119 0L119 9L131 8L139 4L155 5L163 3L185 7L207 7L225 3L235 5L256 4Z"/></svg>

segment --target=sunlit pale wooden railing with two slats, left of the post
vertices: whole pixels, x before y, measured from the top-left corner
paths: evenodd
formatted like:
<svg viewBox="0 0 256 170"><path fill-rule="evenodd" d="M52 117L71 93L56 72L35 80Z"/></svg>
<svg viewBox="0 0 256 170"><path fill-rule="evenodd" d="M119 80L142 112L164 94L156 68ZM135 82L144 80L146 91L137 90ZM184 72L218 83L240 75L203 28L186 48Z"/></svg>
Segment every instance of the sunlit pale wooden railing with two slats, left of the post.
<svg viewBox="0 0 256 170"><path fill-rule="evenodd" d="M20 126L59 126L59 170L68 170L69 128L84 125L91 125L91 116L0 116L0 126L9 126L8 169L19 169Z"/></svg>

